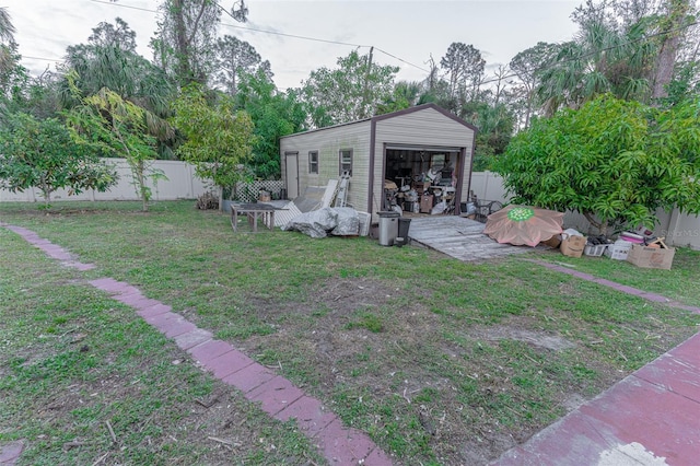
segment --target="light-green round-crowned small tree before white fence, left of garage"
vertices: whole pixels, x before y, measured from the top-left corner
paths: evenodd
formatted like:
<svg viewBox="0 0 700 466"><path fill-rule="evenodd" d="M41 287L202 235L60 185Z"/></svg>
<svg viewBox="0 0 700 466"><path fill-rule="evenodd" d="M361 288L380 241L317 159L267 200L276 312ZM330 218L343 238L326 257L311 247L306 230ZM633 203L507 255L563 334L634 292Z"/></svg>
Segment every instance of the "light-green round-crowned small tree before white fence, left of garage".
<svg viewBox="0 0 700 466"><path fill-rule="evenodd" d="M213 180L221 210L223 189L240 179L241 165L250 158L253 120L247 113L235 112L233 100L226 95L210 105L205 89L196 83L183 90L174 107L172 123L185 138L177 153L195 164L197 175Z"/></svg>

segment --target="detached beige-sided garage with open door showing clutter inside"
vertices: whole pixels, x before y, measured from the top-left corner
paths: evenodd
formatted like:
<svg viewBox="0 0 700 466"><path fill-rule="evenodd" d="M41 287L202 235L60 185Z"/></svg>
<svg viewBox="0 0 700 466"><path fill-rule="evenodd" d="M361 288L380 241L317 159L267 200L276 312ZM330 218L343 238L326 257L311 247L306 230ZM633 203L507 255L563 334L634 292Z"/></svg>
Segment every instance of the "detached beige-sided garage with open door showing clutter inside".
<svg viewBox="0 0 700 466"><path fill-rule="evenodd" d="M456 214L469 194L475 136L434 104L290 135L280 139L282 179L294 199L348 172L355 210L427 212L442 200Z"/></svg>

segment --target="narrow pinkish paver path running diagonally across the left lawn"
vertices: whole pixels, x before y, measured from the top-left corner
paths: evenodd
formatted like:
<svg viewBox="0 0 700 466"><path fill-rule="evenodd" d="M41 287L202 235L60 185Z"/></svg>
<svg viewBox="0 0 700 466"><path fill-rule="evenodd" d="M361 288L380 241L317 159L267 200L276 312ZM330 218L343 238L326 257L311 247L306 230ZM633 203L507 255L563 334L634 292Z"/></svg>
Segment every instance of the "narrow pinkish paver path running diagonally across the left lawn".
<svg viewBox="0 0 700 466"><path fill-rule="evenodd" d="M18 233L67 267L79 270L95 268L93 264L75 260L62 247L40 238L31 230L2 223L0 226ZM230 343L214 339L209 330L198 328L173 312L171 306L144 296L139 289L129 283L112 278L92 280L90 284L133 307L138 315L167 338L172 338L180 349L187 351L214 377L240 389L250 401L258 401L260 408L275 419L287 421L295 418L300 430L317 445L331 465L392 465L389 456L364 432L345 427L340 419L328 411L319 400L306 395L287 378L253 361ZM0 464L14 464L22 448L22 443L5 445L0 456L3 463Z"/></svg>

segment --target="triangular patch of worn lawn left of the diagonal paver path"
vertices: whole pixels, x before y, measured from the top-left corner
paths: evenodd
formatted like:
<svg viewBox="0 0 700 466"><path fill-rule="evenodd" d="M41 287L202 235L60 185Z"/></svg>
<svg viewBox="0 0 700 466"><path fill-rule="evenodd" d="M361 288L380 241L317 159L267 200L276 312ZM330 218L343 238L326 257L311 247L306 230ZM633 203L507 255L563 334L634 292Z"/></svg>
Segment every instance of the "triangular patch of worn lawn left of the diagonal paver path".
<svg viewBox="0 0 700 466"><path fill-rule="evenodd" d="M135 312L0 228L0 444L20 464L323 464Z"/></svg>

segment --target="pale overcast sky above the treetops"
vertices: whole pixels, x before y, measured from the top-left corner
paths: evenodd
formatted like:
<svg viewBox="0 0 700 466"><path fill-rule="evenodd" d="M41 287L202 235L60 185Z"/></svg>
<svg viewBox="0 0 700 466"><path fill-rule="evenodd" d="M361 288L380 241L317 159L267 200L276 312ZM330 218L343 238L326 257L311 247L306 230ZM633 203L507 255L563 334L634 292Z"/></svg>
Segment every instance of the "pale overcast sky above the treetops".
<svg viewBox="0 0 700 466"><path fill-rule="evenodd" d="M218 1L228 9L233 4L233 0ZM454 42L471 44L481 50L490 72L537 42L568 40L575 33L570 14L582 1L247 0L248 22L236 23L224 15L219 33L250 43L262 59L270 61L280 89L300 86L314 69L334 68L337 58L347 56L354 46L362 46L359 49L362 55L374 46L375 62L399 66L399 80L417 81L425 77L431 54L439 63ZM116 3L0 0L0 7L9 8L18 30L15 39L24 57L23 65L34 74L47 67L54 69L55 61L65 56L66 47L86 43L93 27L103 21L114 23L116 16L136 31L138 51L152 58L148 43L156 28L158 14L152 11L159 3L159 0Z"/></svg>

